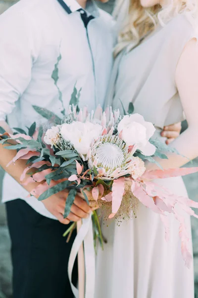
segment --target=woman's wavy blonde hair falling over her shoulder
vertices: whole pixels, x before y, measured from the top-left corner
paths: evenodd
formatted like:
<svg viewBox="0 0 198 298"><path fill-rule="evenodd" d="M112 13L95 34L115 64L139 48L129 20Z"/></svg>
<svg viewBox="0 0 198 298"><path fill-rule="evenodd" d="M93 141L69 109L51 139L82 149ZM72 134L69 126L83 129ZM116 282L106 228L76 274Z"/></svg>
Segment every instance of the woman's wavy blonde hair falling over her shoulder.
<svg viewBox="0 0 198 298"><path fill-rule="evenodd" d="M117 0L113 15L117 20L118 42L114 50L117 56L126 47L132 49L144 36L152 32L160 22L167 23L172 17L186 13L192 23L197 20L198 0L170 0L161 8L154 5L145 8L140 0Z"/></svg>

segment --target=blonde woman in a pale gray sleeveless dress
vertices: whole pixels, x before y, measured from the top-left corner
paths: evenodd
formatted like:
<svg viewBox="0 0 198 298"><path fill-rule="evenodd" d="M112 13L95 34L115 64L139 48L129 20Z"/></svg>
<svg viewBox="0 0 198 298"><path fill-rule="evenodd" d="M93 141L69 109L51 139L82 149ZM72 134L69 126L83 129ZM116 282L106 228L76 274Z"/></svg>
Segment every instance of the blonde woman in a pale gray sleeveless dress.
<svg viewBox="0 0 198 298"><path fill-rule="evenodd" d="M158 160L163 168L180 167L198 156L198 0L120 0L115 15L119 36L107 104L122 110L121 99L127 110L132 101L158 137L185 113L188 129L172 143L182 155ZM157 183L187 196L180 177ZM104 222L108 242L97 255L95 298L194 298L179 224L171 215L168 220L169 242L159 215L141 204L132 221ZM189 216L185 223L191 235Z"/></svg>

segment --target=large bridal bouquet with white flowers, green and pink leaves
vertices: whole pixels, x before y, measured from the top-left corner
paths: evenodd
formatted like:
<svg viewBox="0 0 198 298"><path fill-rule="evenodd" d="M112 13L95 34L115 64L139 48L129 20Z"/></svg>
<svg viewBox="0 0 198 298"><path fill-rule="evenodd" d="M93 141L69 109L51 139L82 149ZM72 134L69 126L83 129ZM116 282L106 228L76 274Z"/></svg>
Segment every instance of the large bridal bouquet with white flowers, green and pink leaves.
<svg viewBox="0 0 198 298"><path fill-rule="evenodd" d="M180 209L195 215L191 207L198 203L189 198L178 197L159 186L153 179L182 176L198 171L198 168L180 168L168 170L146 170L146 162L156 162L153 158L167 158L166 151L174 149L153 139L154 126L146 122L143 116L133 114L133 105L128 113L121 116L119 110L108 107L102 111L98 107L90 114L87 108L79 109L70 102L69 111L63 119L47 109L34 106L34 109L47 118L48 128L28 129L28 133L16 128L16 133L7 134L0 129L0 144L7 149L16 149L17 154L10 161L27 160L27 168L21 175L22 185L40 182L30 195L39 201L68 189L64 218L69 213L77 192L93 207L100 207L108 218L120 220L136 216L138 203L141 202L153 212L159 214L165 226L168 240L169 227L167 213L180 222L182 254L189 267L191 254L188 249L188 234L184 219L178 213ZM10 144L10 140L14 140ZM9 165L9 164L8 164ZM159 165L159 164L158 164ZM160 165L159 165L160 167ZM34 169L33 172L30 172ZM29 177L24 181L26 173ZM94 239L102 245L102 235L97 213L93 214ZM65 233L75 228L72 224Z"/></svg>

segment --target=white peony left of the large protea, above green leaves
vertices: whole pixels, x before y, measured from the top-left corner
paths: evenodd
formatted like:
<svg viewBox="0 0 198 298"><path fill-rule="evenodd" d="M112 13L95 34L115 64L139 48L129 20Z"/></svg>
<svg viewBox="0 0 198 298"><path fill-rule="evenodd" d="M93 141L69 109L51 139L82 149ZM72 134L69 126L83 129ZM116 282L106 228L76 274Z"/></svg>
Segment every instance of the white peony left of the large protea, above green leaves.
<svg viewBox="0 0 198 298"><path fill-rule="evenodd" d="M73 121L63 124L60 134L63 139L70 141L79 154L87 155L93 140L97 140L102 132L102 126L91 122Z"/></svg>

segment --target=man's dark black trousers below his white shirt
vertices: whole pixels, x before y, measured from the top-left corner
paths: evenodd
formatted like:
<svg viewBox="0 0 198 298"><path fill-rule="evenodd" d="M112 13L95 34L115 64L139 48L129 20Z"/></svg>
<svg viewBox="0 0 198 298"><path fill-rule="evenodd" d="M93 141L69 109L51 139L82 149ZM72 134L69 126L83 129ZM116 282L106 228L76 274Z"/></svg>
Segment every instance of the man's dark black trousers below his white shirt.
<svg viewBox="0 0 198 298"><path fill-rule="evenodd" d="M46 218L25 201L6 203L13 264L13 298L73 298L67 264L69 243L62 237L68 225ZM77 264L76 264L77 265ZM77 266L73 270L77 281Z"/></svg>

